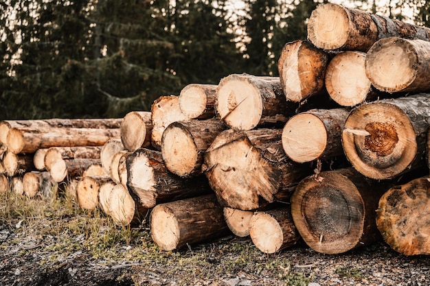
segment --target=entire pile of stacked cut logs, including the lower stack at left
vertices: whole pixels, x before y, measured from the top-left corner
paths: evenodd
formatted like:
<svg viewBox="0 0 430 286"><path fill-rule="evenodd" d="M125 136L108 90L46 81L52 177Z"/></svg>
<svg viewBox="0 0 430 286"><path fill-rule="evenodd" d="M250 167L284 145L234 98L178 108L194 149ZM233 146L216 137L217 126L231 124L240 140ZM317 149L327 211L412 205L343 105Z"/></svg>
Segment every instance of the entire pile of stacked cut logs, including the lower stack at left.
<svg viewBox="0 0 430 286"><path fill-rule="evenodd" d="M384 239L430 254L429 40L427 27L321 4L279 77L189 84L94 126L1 122L1 188L32 197L66 181L82 208L148 222L163 250L233 234L266 253Z"/></svg>

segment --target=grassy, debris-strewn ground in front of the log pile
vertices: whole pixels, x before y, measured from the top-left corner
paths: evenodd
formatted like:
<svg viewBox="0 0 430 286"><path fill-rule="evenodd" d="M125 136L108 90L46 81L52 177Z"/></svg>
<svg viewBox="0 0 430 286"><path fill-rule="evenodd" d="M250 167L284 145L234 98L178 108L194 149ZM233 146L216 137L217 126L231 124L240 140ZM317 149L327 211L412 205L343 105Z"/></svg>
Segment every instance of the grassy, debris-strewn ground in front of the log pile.
<svg viewBox="0 0 430 286"><path fill-rule="evenodd" d="M336 255L299 241L264 254L234 235L166 252L145 222L116 226L73 202L0 195L0 286L429 285L429 262L383 241Z"/></svg>

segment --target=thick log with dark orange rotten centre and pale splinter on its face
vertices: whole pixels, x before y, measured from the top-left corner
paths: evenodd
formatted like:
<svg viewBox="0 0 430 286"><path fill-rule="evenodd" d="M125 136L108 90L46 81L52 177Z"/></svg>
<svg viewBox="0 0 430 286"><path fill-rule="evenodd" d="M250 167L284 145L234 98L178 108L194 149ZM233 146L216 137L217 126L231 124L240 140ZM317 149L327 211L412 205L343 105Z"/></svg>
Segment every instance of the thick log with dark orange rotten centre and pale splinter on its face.
<svg viewBox="0 0 430 286"><path fill-rule="evenodd" d="M422 167L429 114L428 94L358 106L346 119L343 150L357 171L378 180Z"/></svg>

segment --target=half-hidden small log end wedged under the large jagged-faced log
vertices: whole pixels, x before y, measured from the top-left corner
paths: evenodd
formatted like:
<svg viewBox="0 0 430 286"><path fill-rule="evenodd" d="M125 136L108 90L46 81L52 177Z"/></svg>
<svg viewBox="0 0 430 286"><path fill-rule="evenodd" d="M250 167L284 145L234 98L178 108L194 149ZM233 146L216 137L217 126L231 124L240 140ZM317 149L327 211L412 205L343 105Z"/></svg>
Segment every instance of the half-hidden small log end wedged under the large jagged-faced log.
<svg viewBox="0 0 430 286"><path fill-rule="evenodd" d="M242 211L225 206L223 214L231 233L238 237L247 237L249 235L249 228L251 227L249 222L251 222L251 217L254 214L253 211Z"/></svg>

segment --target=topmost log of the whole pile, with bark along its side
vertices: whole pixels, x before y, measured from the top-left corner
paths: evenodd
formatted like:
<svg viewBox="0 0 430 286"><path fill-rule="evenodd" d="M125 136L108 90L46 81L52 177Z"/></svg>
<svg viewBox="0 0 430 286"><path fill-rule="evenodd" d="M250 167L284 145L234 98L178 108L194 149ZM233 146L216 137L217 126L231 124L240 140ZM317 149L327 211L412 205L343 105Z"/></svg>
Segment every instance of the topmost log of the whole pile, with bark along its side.
<svg viewBox="0 0 430 286"><path fill-rule="evenodd" d="M430 28L341 5L319 5L308 21L308 38L321 49L367 51L381 38L429 40Z"/></svg>

